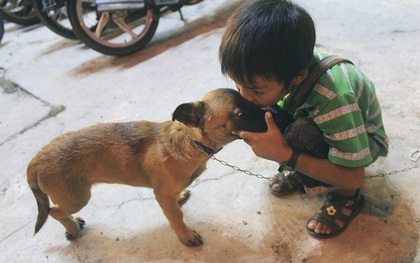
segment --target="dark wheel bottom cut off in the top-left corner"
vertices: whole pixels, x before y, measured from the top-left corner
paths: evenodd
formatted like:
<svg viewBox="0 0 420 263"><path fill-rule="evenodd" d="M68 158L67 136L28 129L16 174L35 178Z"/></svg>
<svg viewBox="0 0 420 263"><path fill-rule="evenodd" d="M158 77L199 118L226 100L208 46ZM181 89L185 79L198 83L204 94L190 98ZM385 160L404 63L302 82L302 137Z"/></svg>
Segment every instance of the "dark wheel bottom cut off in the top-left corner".
<svg viewBox="0 0 420 263"><path fill-rule="evenodd" d="M31 0L0 0L0 13L9 22L29 26L39 23Z"/></svg>

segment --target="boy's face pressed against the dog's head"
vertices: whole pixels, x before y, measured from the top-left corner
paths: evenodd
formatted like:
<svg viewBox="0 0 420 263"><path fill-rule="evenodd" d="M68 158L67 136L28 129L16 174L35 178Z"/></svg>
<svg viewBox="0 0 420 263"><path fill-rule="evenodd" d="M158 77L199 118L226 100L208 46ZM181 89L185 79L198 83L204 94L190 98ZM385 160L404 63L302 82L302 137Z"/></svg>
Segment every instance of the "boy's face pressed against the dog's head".
<svg viewBox="0 0 420 263"><path fill-rule="evenodd" d="M237 82L235 82L235 85L242 97L257 106L275 105L288 93L287 90L289 89L283 83L259 76L256 76L254 80L255 83L252 87L246 87Z"/></svg>

